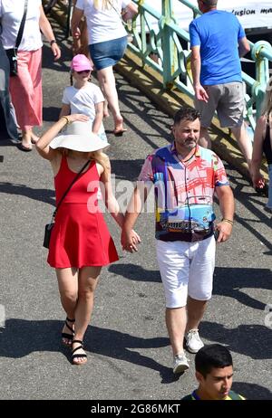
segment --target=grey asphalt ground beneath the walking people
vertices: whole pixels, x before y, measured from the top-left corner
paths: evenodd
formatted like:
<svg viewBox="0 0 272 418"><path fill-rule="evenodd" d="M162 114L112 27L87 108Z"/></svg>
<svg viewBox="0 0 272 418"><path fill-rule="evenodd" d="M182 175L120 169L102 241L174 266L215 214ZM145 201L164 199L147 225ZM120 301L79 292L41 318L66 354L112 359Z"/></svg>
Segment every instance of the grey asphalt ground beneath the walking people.
<svg viewBox="0 0 272 418"><path fill-rule="evenodd" d="M43 130L58 118L69 84L70 45L62 33L57 36L61 62L53 63L44 44ZM112 118L105 126L120 197L123 182L136 180L146 155L170 141L171 120L121 76L116 79L128 132L115 138ZM61 345L64 314L57 283L42 246L44 224L53 213L51 168L35 150L26 154L13 144L0 145L0 399L177 401L189 394L196 386L194 356L189 354L184 375L171 371L153 214L141 214L142 243L132 255L121 252L120 231L106 215L120 261L102 271L85 337L88 363L72 366L70 351ZM264 210L266 198L226 167L236 222L231 239L218 245L213 298L199 332L206 344L219 342L231 350L236 391L248 399L271 400L271 215Z"/></svg>

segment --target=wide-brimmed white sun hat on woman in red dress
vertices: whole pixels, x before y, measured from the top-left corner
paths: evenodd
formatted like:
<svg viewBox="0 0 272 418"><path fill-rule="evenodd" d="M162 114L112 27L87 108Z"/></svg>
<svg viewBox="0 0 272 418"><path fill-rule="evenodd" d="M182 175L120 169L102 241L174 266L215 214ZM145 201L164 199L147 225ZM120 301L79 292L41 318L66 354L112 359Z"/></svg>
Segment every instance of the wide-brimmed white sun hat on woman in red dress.
<svg viewBox="0 0 272 418"><path fill-rule="evenodd" d="M53 149L68 148L74 151L92 152L109 147L109 142L92 133L92 122L76 121L66 125L61 135L53 138L49 146Z"/></svg>

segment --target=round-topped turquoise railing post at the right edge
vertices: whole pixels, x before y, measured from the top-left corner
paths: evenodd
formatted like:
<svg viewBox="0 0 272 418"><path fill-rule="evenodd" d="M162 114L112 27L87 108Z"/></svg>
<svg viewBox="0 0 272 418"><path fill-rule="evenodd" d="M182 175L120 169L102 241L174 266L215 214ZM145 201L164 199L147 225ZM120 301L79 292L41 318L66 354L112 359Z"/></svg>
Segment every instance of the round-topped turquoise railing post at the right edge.
<svg viewBox="0 0 272 418"><path fill-rule="evenodd" d="M258 41L251 51L251 56L256 61L256 82L252 86L252 96L256 100L256 120L260 116L262 101L269 81L268 60L264 57L264 52L272 55L272 47L266 41Z"/></svg>

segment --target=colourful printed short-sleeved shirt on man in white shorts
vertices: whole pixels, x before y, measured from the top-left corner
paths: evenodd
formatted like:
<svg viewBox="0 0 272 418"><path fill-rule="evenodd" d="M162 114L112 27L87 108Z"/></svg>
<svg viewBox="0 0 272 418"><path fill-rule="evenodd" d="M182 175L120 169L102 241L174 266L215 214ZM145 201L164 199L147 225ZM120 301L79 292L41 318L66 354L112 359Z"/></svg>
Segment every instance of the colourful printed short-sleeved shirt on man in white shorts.
<svg viewBox="0 0 272 418"><path fill-rule="evenodd" d="M194 242L213 233L213 195L228 185L223 163L209 149L196 147L180 161L173 142L148 156L138 181L155 187L156 239Z"/></svg>

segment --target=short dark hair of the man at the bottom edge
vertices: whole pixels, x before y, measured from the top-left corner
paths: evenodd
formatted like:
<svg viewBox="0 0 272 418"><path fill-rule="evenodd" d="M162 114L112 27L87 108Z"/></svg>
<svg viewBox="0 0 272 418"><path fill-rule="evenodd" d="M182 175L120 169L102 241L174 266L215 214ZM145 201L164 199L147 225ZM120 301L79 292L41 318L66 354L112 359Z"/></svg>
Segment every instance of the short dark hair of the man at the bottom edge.
<svg viewBox="0 0 272 418"><path fill-rule="evenodd" d="M195 356L196 371L206 377L212 368L232 366L232 357L228 348L220 344L210 344L199 349Z"/></svg>

